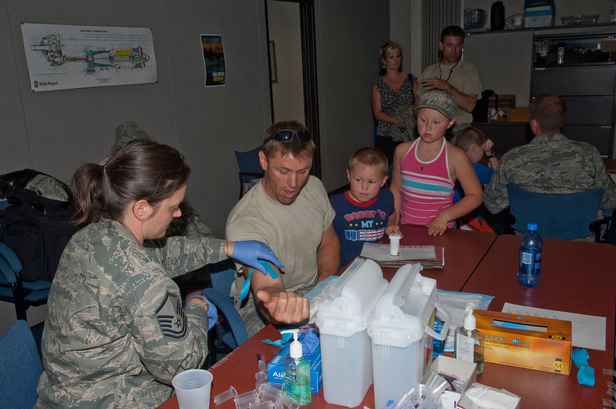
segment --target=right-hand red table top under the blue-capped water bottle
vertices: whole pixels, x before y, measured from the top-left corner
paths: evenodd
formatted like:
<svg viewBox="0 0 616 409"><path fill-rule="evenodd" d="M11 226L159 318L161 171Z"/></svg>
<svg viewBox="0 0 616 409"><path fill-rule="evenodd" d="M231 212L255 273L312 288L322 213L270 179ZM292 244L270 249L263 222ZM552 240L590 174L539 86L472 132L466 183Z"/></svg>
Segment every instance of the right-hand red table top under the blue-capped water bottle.
<svg viewBox="0 0 616 409"><path fill-rule="evenodd" d="M567 375L485 363L477 382L506 389L519 397L522 408L601 408L607 382L603 368L614 369L614 317L616 313L616 248L601 243L545 238L541 257L541 283L527 288L517 283L520 236L499 236L462 291L495 296L490 310L505 302L577 314L606 317L606 350L587 349L594 368L594 387L578 384L572 363ZM575 349L575 347L574 347Z"/></svg>

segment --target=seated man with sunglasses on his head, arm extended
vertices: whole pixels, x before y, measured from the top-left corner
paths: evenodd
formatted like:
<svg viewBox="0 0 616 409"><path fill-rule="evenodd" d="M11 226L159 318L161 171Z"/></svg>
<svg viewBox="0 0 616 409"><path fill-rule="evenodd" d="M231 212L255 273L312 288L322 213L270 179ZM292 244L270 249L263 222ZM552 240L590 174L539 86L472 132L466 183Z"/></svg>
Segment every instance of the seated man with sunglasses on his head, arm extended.
<svg viewBox="0 0 616 409"><path fill-rule="evenodd" d="M323 184L310 176L316 147L306 126L296 121L272 124L259 152L261 179L235 205L227 219L227 240L267 243L285 266L278 278L254 272L251 294L235 307L248 336L272 323L299 323L308 318L306 294L333 275L340 264L340 244L333 227L334 209ZM271 265L271 264L270 264ZM238 300L249 267L236 264L230 296Z"/></svg>

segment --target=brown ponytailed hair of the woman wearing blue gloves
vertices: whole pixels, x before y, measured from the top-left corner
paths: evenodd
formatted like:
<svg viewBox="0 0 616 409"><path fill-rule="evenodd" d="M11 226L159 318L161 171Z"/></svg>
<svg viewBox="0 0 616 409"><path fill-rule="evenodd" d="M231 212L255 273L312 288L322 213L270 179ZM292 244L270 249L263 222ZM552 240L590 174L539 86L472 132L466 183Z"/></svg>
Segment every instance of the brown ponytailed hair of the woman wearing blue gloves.
<svg viewBox="0 0 616 409"><path fill-rule="evenodd" d="M75 224L97 222L101 217L122 221L127 206L136 200L145 199L156 207L184 186L189 175L190 167L176 148L148 139L132 140L105 166L86 163L75 171L71 180Z"/></svg>

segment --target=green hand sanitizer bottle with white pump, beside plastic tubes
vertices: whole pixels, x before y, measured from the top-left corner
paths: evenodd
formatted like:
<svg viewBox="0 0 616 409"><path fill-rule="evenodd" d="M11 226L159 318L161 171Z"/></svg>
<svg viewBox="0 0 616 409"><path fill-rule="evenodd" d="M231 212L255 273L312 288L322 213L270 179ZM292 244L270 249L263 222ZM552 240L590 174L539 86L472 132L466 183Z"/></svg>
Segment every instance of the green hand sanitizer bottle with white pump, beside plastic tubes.
<svg viewBox="0 0 616 409"><path fill-rule="evenodd" d="M310 403L310 362L302 356L302 343L298 341L298 329L281 331L293 333L290 354L283 358L283 391L304 406Z"/></svg>

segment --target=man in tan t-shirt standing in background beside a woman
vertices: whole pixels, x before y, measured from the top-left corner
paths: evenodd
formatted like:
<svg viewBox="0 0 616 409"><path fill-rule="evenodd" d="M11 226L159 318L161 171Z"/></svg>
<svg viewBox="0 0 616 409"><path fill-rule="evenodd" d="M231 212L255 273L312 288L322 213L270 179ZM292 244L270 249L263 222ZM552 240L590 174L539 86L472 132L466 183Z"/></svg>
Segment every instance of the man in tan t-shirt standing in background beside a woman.
<svg viewBox="0 0 616 409"><path fill-rule="evenodd" d="M477 68L461 60L464 47L464 31L458 26L448 26L440 33L439 48L443 53L437 64L427 67L421 75L419 97L432 89L452 94L458 101L456 123L452 127L453 139L462 129L471 126L472 110L481 97L481 83Z"/></svg>

